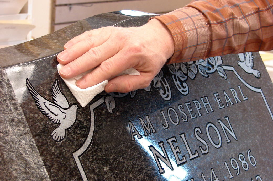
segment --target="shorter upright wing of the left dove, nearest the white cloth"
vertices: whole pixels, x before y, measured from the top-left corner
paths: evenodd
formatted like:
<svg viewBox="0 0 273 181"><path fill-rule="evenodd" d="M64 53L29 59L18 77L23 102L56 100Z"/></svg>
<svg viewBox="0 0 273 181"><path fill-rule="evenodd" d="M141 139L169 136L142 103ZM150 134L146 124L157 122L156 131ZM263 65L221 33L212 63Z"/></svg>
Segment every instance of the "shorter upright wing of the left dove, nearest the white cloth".
<svg viewBox="0 0 273 181"><path fill-rule="evenodd" d="M69 108L69 102L66 96L64 96L64 94L61 92L58 79L56 79L54 84L52 85L51 95L55 104L58 104L64 109Z"/></svg>

